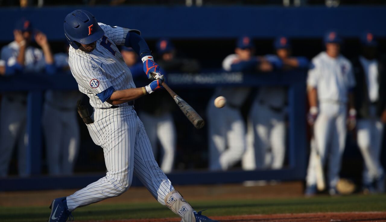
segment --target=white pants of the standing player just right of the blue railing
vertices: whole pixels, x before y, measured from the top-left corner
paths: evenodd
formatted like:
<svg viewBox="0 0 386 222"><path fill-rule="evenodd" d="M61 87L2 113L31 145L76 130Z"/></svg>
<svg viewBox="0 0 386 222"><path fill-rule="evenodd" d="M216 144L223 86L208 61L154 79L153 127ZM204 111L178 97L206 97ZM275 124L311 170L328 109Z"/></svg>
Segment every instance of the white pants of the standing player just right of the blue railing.
<svg viewBox="0 0 386 222"><path fill-rule="evenodd" d="M347 104L337 102L320 102L319 114L314 125L314 140L320 159L324 165L328 155L327 181L330 188L335 188L339 181L340 164L346 140ZM316 185L316 153L311 149L308 163L307 186Z"/></svg>

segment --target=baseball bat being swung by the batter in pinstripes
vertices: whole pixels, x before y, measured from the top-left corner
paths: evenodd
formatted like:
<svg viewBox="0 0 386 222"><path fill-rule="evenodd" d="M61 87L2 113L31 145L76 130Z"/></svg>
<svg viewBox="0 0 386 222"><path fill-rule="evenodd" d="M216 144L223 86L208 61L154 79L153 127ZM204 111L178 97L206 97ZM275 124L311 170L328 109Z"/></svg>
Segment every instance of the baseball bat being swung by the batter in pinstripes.
<svg viewBox="0 0 386 222"><path fill-rule="evenodd" d="M162 86L168 91L171 97L174 99L174 102L177 103L178 107L185 114L186 118L197 128L201 129L205 125L205 121L198 115L196 110L194 110L185 100L179 97L171 88L166 84L162 83Z"/></svg>

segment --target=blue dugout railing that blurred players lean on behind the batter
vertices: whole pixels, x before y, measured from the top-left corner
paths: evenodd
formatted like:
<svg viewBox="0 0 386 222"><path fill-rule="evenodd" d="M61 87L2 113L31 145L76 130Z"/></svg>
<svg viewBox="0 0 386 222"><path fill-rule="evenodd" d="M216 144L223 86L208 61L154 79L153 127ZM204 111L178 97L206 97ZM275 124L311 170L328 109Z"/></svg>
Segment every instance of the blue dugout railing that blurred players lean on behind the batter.
<svg viewBox="0 0 386 222"><path fill-rule="evenodd" d="M248 180L303 180L306 172L306 71L296 70L284 73L256 75L256 73L180 73L169 74L168 85L173 89L213 88L215 86L286 86L288 88L288 165L278 170L259 171L183 171L168 174L174 184L215 184L240 183ZM71 75L24 74L0 77L0 92L28 92L27 165L32 176L29 178L2 178L0 190L45 190L81 188L104 176L104 173L81 174L75 176L52 177L42 175L42 130L41 113L45 90L76 90L77 85ZM194 91L192 91L194 93ZM189 102L189 101L187 101ZM206 104L205 104L206 105ZM12 107L9 107L12 108ZM1 118L1 117L0 117ZM0 120L1 121L1 120ZM135 177L135 176L134 176ZM28 186L27 186L28 185ZM134 178L132 186L141 185Z"/></svg>

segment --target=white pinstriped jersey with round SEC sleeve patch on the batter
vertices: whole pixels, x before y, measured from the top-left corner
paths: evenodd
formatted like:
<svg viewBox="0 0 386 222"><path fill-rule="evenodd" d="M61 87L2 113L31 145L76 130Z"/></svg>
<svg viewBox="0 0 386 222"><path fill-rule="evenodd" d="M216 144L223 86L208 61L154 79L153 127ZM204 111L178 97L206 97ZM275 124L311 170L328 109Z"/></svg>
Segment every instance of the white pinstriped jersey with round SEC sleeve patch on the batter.
<svg viewBox="0 0 386 222"><path fill-rule="evenodd" d="M90 98L94 108L108 108L111 105L97 96L109 87L115 90L135 88L130 69L125 64L117 45L125 43L125 32L122 27L111 27L103 23L98 25L105 36L97 41L91 53L70 46L68 63L78 83L79 91Z"/></svg>

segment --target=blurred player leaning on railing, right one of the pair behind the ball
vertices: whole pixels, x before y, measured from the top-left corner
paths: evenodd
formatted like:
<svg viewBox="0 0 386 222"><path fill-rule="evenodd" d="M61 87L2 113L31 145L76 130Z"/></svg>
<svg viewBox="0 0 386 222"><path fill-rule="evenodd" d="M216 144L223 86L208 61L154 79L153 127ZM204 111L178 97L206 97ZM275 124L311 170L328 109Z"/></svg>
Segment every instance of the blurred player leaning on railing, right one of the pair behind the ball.
<svg viewBox="0 0 386 222"><path fill-rule="evenodd" d="M276 38L274 48L276 55L265 56L265 59L272 64L273 70L308 68L306 58L291 56L291 42L287 37ZM253 125L253 146L257 169L283 167L286 144L286 95L284 87L263 86L259 88L257 97L252 103L248 119ZM247 146L251 146L251 143L248 142Z"/></svg>

